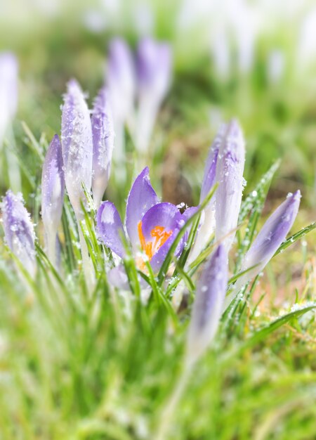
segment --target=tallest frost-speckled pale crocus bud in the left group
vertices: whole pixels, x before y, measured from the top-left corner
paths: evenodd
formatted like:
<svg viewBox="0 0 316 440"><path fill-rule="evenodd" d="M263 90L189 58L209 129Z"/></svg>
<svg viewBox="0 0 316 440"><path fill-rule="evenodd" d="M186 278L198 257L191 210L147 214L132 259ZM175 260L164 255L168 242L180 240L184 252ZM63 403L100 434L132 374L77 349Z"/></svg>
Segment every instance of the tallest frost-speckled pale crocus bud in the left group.
<svg viewBox="0 0 316 440"><path fill-rule="evenodd" d="M62 107L62 160L65 183L74 212L80 213L80 200L85 200L81 182L91 189L92 131L91 120L84 93L77 81L67 84Z"/></svg>

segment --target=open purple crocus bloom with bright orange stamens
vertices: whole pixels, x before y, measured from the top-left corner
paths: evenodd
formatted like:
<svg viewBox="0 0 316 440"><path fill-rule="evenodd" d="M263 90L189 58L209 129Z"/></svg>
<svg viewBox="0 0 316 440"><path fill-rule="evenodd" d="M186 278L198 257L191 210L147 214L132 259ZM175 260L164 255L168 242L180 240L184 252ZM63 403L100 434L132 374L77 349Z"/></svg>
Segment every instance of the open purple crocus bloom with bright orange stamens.
<svg viewBox="0 0 316 440"><path fill-rule="evenodd" d="M161 268L166 254L176 239L180 228L197 208L191 207L183 214L176 205L160 202L152 188L146 167L131 187L126 204L126 232L136 258L136 266L145 271L145 261L150 261L154 273ZM126 237L117 208L112 202L100 205L97 214L98 235L112 252L124 258L122 236ZM179 255L185 245L185 237L176 249Z"/></svg>

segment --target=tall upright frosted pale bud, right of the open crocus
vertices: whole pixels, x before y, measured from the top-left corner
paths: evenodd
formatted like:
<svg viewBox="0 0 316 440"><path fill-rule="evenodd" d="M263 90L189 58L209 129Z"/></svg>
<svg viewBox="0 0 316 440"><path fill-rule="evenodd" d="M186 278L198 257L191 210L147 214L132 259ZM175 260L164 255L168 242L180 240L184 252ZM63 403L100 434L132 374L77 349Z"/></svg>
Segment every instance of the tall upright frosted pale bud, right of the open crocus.
<svg viewBox="0 0 316 440"><path fill-rule="evenodd" d="M232 120L220 128L221 138L216 167L215 216L216 240L224 240L226 250L235 238L235 228L244 188L244 136L237 121Z"/></svg>

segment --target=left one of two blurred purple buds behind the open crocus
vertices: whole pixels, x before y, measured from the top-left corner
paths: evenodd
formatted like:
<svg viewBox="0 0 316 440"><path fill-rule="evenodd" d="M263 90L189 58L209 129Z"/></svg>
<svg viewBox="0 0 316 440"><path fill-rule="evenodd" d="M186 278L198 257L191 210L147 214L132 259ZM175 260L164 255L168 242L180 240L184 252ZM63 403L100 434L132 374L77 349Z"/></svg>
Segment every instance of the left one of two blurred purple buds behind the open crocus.
<svg viewBox="0 0 316 440"><path fill-rule="evenodd" d="M135 69L131 51L123 39L116 38L110 42L107 86L114 122L124 123L133 108Z"/></svg>

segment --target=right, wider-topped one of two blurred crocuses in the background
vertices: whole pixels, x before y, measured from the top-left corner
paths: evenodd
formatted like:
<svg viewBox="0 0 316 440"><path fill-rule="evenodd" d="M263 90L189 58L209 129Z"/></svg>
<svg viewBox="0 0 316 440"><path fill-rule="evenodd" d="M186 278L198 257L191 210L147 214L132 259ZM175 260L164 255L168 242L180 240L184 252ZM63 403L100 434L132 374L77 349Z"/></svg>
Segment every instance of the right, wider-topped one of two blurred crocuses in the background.
<svg viewBox="0 0 316 440"><path fill-rule="evenodd" d="M138 110L135 143L140 153L147 150L154 121L171 82L171 48L145 38L137 54Z"/></svg>

